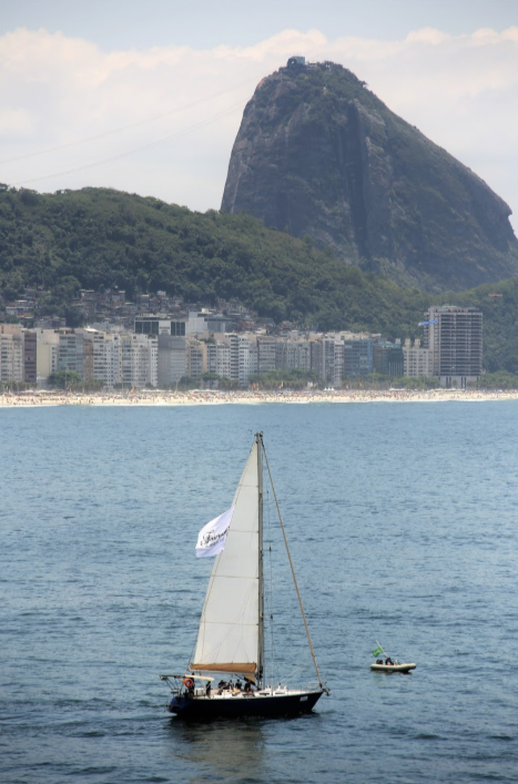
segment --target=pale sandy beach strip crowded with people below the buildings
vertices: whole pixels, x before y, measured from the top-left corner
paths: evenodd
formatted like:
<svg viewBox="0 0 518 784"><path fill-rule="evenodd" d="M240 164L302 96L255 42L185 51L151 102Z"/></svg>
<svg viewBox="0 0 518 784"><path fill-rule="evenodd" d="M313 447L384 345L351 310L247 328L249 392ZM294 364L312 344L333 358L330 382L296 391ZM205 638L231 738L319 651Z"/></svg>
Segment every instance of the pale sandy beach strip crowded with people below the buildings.
<svg viewBox="0 0 518 784"><path fill-rule="evenodd" d="M49 394L29 393L0 395L0 408L34 406L221 406L257 405L263 403L440 403L447 400L485 401L518 400L518 390L457 391L454 389L430 389L428 391L190 391L190 393L133 393L133 394Z"/></svg>

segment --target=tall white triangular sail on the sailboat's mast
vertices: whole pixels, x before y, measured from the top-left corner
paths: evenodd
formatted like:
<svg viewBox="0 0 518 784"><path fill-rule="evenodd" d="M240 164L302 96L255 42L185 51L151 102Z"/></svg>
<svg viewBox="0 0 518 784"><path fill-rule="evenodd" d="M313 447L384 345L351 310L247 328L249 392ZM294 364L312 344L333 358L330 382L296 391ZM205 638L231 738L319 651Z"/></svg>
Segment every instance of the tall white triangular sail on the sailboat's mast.
<svg viewBox="0 0 518 784"><path fill-rule="evenodd" d="M254 673L260 620L257 444L232 506L225 548L209 580L191 669Z"/></svg>

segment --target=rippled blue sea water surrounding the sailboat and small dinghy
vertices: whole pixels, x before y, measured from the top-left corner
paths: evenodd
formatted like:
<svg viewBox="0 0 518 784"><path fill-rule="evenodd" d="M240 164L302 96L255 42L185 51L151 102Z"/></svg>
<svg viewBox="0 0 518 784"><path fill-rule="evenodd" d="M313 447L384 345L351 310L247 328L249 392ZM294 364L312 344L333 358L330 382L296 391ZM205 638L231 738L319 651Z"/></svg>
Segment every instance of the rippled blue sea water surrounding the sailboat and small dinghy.
<svg viewBox="0 0 518 784"><path fill-rule="evenodd" d="M257 429L332 694L184 725L159 674L189 661L197 531ZM517 457L516 401L1 410L0 781L517 781ZM296 685L267 501L270 674ZM415 672L372 673L377 640Z"/></svg>

